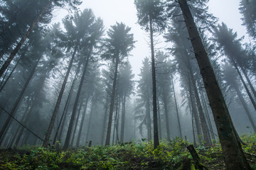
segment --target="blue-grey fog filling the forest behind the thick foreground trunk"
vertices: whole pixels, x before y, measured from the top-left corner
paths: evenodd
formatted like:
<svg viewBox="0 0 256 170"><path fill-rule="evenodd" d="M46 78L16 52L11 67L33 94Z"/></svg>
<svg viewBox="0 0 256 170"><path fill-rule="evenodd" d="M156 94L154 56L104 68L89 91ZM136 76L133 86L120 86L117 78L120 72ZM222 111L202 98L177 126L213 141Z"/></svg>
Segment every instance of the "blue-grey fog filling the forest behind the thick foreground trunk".
<svg viewBox="0 0 256 170"><path fill-rule="evenodd" d="M158 6L152 29L136 1L0 2L0 147L218 140L175 1ZM217 2L189 3L242 135L256 130L256 28L236 2L231 23Z"/></svg>

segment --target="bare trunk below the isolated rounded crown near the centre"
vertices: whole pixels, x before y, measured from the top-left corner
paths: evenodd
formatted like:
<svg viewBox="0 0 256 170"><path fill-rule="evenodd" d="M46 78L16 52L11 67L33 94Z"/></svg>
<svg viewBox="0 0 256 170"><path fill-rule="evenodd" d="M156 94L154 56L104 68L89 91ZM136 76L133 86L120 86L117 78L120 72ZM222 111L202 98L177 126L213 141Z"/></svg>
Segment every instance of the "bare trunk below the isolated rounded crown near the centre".
<svg viewBox="0 0 256 170"><path fill-rule="evenodd" d="M117 56L116 56L116 63L115 63L115 67L114 67L114 79L113 79L111 103L110 103L110 115L109 115L109 122L107 125L107 137L106 137L105 145L110 145L110 135L111 135L112 117L113 117L113 111L114 111L114 96L115 96L116 85L117 85L118 65L119 65L119 54L117 54Z"/></svg>

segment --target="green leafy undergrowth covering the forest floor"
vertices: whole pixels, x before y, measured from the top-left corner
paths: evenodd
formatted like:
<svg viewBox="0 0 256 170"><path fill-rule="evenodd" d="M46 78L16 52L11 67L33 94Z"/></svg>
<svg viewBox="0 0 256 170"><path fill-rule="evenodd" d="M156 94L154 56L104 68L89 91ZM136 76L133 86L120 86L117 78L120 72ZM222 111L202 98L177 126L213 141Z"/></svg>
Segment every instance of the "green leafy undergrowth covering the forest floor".
<svg viewBox="0 0 256 170"><path fill-rule="evenodd" d="M256 134L242 135L246 157L256 169ZM21 147L0 149L0 169L197 169L186 147L191 143L176 138L162 140L157 149L152 142L129 142L110 147L92 146L77 149ZM220 144L198 145L200 162L208 169L225 169Z"/></svg>

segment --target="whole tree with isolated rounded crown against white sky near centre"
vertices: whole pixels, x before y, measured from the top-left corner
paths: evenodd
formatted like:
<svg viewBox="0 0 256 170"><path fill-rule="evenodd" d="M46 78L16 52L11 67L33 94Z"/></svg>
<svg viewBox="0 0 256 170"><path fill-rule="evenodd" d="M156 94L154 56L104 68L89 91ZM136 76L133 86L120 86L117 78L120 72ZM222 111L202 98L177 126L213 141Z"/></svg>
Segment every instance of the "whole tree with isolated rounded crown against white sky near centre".
<svg viewBox="0 0 256 170"><path fill-rule="evenodd" d="M116 23L116 25L111 26L110 30L107 31L108 38L105 39L106 51L102 55L102 57L107 60L112 60L112 62L114 62L114 78L110 101L110 115L107 126L107 137L105 145L110 145L110 134L112 126L112 115L114 111L114 98L117 85L118 67L124 57L127 57L127 55L129 55L129 52L134 47L134 38L133 34L129 33L130 30L131 28L125 26L124 23Z"/></svg>

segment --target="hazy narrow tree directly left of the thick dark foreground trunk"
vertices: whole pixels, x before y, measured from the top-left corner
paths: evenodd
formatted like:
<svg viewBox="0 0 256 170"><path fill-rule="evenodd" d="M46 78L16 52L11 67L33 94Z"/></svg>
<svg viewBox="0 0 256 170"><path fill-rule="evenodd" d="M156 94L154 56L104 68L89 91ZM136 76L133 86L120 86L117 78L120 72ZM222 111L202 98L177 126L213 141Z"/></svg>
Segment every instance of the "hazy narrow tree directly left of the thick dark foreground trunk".
<svg viewBox="0 0 256 170"><path fill-rule="evenodd" d="M182 24L177 21L180 19L181 18L176 18L176 20L173 21L173 28L170 28L169 33L166 34L166 40L174 42L174 47L170 50L175 56L176 67L181 74L181 86L184 88L184 91L188 93L188 101L190 101L188 103L191 104L191 115L193 115L192 122L193 119L195 119L198 140L204 140L207 145L210 145L206 116L203 113L201 99L198 94L198 84L196 84L196 80L200 79L199 70L198 66L196 66L196 61L191 60L191 58L193 58L193 53L190 51L191 42L186 40L188 33L186 30L182 29ZM203 139L201 136L203 136Z"/></svg>

